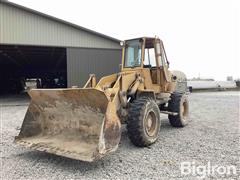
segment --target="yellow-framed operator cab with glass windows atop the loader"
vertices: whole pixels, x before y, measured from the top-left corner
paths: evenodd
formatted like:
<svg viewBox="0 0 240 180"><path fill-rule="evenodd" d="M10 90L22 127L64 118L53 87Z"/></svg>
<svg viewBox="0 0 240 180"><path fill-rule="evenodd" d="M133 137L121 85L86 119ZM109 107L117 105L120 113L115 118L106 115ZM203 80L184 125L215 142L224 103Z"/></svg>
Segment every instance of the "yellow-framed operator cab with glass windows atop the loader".
<svg viewBox="0 0 240 180"><path fill-rule="evenodd" d="M123 44L122 71L145 69L153 84L170 82L169 62L159 38L138 38Z"/></svg>

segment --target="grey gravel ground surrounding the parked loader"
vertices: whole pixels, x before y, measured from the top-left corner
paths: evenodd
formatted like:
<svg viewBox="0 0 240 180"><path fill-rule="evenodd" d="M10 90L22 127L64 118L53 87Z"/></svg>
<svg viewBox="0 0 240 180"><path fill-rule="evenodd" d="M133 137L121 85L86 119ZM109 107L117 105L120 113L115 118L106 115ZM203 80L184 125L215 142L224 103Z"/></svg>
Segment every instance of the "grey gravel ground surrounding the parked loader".
<svg viewBox="0 0 240 180"><path fill-rule="evenodd" d="M87 163L13 143L29 102L24 97L1 97L1 179L195 179L181 175L181 162L237 167L237 174L206 178L239 179L239 92L204 92L189 96L190 124L173 128L162 115L160 138L149 148L131 144L123 127L116 152ZM203 177L203 176L201 176Z"/></svg>

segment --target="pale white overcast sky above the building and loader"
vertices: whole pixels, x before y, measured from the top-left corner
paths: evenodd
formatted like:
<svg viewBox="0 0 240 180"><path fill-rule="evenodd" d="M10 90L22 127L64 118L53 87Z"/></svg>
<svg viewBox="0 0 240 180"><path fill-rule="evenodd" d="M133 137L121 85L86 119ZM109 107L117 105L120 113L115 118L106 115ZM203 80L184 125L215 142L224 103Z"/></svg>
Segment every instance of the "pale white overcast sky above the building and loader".
<svg viewBox="0 0 240 180"><path fill-rule="evenodd" d="M159 36L189 78L240 77L238 0L11 1L121 40Z"/></svg>

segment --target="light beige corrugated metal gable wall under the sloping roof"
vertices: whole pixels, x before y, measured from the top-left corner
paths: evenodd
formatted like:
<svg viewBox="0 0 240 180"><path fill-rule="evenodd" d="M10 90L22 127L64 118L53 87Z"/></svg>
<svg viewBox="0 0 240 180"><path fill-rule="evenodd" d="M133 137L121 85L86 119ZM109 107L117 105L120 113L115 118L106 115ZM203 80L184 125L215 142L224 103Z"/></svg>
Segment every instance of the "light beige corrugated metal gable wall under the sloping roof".
<svg viewBox="0 0 240 180"><path fill-rule="evenodd" d="M0 43L120 49L118 42L0 3Z"/></svg>

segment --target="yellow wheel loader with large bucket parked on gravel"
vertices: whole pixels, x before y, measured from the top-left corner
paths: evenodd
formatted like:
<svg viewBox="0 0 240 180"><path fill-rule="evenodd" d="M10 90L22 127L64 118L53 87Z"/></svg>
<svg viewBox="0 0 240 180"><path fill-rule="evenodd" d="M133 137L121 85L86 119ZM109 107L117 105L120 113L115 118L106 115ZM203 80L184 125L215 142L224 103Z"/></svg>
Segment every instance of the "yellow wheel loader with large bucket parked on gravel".
<svg viewBox="0 0 240 180"><path fill-rule="evenodd" d="M138 147L155 143L160 113L173 127L188 123L186 76L169 71L162 40L123 41L121 70L83 88L32 89L17 144L92 162L117 149L121 125Z"/></svg>

